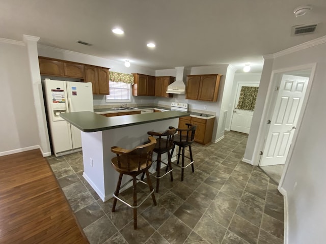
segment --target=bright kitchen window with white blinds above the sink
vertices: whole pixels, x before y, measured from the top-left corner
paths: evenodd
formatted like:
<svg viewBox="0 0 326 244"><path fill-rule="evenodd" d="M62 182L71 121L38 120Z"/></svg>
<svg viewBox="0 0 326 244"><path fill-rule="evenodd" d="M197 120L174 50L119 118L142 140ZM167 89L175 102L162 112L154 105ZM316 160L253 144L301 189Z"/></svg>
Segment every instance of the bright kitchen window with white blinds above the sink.
<svg viewBox="0 0 326 244"><path fill-rule="evenodd" d="M109 81L110 95L106 95L107 103L131 102L131 85L124 82Z"/></svg>

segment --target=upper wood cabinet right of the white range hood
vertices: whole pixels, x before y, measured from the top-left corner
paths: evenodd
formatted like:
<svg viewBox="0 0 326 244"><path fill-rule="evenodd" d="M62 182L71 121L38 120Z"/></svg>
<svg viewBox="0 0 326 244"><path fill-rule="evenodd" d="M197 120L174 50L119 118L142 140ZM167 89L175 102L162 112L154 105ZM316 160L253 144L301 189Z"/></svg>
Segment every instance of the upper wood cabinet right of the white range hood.
<svg viewBox="0 0 326 244"><path fill-rule="evenodd" d="M218 101L221 74L188 75L186 99Z"/></svg>

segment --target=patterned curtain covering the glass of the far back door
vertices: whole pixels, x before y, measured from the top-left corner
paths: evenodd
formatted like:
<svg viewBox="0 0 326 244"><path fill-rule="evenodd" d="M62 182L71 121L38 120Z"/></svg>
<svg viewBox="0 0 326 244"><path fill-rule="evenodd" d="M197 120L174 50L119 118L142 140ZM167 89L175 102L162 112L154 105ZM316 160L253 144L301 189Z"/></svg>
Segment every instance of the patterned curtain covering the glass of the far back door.
<svg viewBox="0 0 326 244"><path fill-rule="evenodd" d="M258 94L257 86L242 86L237 109L254 110Z"/></svg>

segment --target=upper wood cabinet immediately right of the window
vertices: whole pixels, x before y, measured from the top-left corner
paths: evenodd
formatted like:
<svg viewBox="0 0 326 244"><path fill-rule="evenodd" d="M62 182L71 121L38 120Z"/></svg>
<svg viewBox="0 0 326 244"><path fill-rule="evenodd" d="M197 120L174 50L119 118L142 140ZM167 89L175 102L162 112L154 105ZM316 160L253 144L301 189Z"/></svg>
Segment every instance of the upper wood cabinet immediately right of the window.
<svg viewBox="0 0 326 244"><path fill-rule="evenodd" d="M155 96L155 76L133 74L133 96Z"/></svg>

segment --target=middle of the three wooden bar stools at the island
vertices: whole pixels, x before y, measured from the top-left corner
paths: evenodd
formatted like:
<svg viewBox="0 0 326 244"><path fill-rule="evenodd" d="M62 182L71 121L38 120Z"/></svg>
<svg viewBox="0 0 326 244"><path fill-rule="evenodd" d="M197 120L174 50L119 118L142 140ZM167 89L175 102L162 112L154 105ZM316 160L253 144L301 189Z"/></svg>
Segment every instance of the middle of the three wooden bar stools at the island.
<svg viewBox="0 0 326 244"><path fill-rule="evenodd" d="M168 173L170 173L171 181L173 181L173 173L172 173L172 164L171 164L171 154L170 150L173 147L173 141L174 141L174 134L177 132L177 129L169 129L165 132L158 133L158 132L153 132L149 131L147 132L148 135L151 136L158 136L156 138L156 145L154 147L154 152L157 154L157 160L153 161L156 162L156 174L152 174L156 178L156 192L158 192L159 188L159 179L166 176ZM168 154L168 162L162 162L161 161L161 155L162 154ZM165 164L167 166L167 172L163 175L160 175L161 172L161 163ZM169 171L168 171L169 169ZM143 173L144 176L144 173Z"/></svg>

